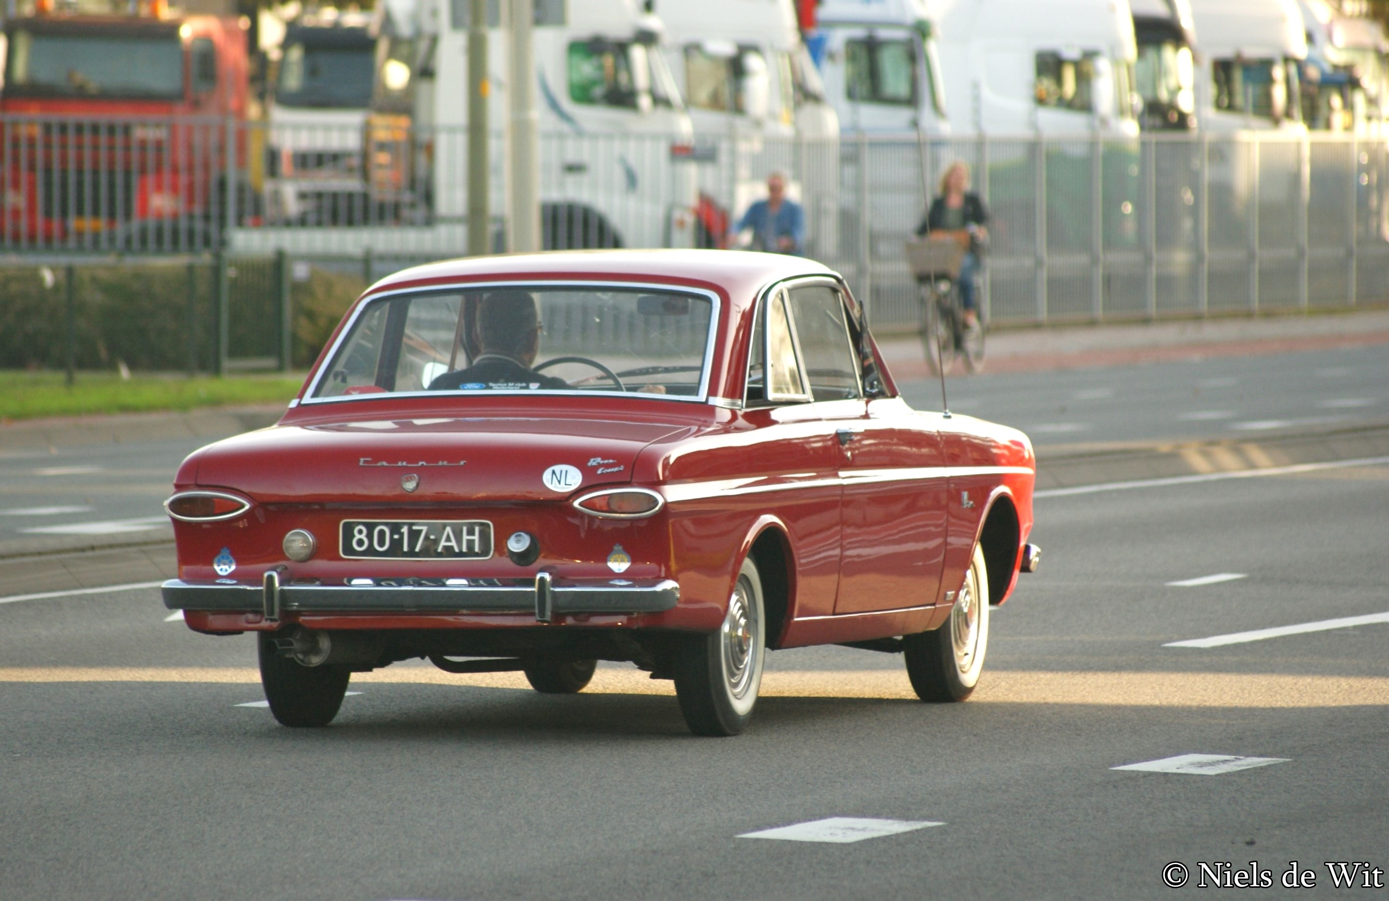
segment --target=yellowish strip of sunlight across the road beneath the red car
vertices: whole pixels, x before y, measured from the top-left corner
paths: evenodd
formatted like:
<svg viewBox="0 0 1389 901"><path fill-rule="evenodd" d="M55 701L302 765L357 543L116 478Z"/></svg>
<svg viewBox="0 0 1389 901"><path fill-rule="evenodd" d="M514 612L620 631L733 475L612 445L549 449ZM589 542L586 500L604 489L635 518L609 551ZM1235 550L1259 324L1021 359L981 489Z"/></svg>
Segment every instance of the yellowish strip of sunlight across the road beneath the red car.
<svg viewBox="0 0 1389 901"><path fill-rule="evenodd" d="M251 668L35 666L0 668L0 683L151 682L258 684ZM424 666L354 673L353 684L440 684L528 689L521 673L453 675ZM631 669L600 669L589 694L674 694L674 684ZM915 697L903 671L768 672L764 697L875 698ZM1389 705L1386 676L1295 676L1211 672L985 672L972 702L1076 704L1090 707L1317 708Z"/></svg>

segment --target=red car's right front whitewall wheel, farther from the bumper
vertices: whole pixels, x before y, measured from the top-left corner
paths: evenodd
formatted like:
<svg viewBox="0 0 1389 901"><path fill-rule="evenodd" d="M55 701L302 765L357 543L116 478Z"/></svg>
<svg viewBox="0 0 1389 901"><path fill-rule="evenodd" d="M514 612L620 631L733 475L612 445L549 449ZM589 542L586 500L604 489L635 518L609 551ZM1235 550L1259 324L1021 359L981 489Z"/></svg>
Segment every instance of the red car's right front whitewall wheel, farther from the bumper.
<svg viewBox="0 0 1389 901"><path fill-rule="evenodd" d="M963 701L974 693L989 648L989 573L974 547L964 586L939 629L906 636L907 677L922 701Z"/></svg>

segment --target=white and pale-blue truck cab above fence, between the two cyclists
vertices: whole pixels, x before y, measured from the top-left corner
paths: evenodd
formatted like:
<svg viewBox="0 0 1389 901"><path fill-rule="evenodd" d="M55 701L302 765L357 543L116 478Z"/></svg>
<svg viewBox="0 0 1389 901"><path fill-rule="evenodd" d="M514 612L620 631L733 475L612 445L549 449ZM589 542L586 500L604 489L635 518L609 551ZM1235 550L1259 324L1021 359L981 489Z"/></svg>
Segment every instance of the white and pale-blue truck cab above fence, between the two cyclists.
<svg viewBox="0 0 1389 901"><path fill-rule="evenodd" d="M949 135L936 21L926 0L824 0L825 93L846 132Z"/></svg>

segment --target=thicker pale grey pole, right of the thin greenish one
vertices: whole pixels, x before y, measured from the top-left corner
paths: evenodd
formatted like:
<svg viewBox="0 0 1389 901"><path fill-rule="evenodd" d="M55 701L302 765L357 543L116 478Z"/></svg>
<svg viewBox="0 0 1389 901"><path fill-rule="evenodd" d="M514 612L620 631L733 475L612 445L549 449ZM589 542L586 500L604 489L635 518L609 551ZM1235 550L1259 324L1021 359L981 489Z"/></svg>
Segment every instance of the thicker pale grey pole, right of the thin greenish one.
<svg viewBox="0 0 1389 901"><path fill-rule="evenodd" d="M535 0L511 0L511 250L540 250L540 112L535 106Z"/></svg>

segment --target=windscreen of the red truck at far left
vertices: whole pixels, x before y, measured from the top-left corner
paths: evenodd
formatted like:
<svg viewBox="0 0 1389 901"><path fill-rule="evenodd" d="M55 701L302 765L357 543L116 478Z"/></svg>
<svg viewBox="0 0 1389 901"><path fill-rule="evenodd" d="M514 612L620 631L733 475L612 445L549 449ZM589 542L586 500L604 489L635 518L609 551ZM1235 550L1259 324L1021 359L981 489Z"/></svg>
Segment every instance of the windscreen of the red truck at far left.
<svg viewBox="0 0 1389 901"><path fill-rule="evenodd" d="M6 92L40 97L178 100L183 47L178 35L10 35Z"/></svg>

